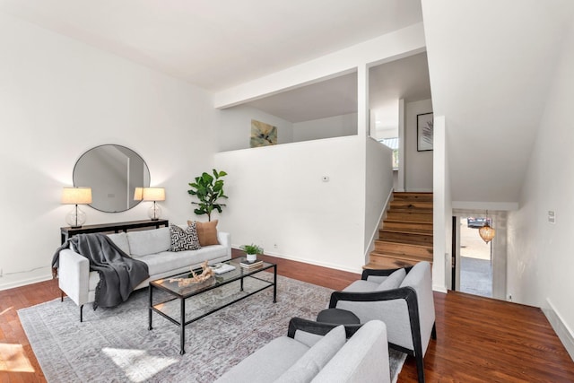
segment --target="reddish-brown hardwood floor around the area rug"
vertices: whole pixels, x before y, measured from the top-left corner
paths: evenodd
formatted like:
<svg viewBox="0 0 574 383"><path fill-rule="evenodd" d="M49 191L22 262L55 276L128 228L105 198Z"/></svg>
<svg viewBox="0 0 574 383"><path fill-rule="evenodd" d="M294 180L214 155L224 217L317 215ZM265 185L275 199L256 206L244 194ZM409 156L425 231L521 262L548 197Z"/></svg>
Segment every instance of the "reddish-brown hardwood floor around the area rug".
<svg viewBox="0 0 574 383"><path fill-rule="evenodd" d="M357 274L265 257L279 274L343 289ZM56 281L0 291L0 382L46 381L16 310L59 297ZM438 339L425 355L428 382L574 382L574 362L540 309L436 292ZM415 382L408 358L399 383Z"/></svg>

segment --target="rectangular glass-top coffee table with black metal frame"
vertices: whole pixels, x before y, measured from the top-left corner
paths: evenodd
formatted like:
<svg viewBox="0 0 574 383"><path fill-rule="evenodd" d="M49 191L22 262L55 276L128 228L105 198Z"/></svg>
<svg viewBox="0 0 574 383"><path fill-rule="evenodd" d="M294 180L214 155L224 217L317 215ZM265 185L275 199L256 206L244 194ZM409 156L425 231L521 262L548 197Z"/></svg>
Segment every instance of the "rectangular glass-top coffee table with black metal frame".
<svg viewBox="0 0 574 383"><path fill-rule="evenodd" d="M263 265L248 269L239 265L242 259L234 258L224 262L235 266L235 269L227 273L215 274L214 277L202 283L185 285L178 281L181 278L190 278L191 273L172 275L150 282L148 330L153 329L152 313L154 311L179 326L181 344L179 353L183 355L186 353L185 328L190 323L271 286L273 286L275 303L277 301L277 265L263 262ZM264 274L260 274L271 268L274 269L273 278L271 275L265 278ZM156 291L155 300L154 291Z"/></svg>

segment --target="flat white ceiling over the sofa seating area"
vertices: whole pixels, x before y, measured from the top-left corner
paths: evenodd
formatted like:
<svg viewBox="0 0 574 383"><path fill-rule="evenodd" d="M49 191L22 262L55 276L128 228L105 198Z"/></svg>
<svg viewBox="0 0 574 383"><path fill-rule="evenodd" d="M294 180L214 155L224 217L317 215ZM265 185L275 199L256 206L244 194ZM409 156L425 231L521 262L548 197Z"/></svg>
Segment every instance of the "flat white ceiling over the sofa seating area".
<svg viewBox="0 0 574 383"><path fill-rule="evenodd" d="M422 21L419 0L0 0L0 10L209 91Z"/></svg>

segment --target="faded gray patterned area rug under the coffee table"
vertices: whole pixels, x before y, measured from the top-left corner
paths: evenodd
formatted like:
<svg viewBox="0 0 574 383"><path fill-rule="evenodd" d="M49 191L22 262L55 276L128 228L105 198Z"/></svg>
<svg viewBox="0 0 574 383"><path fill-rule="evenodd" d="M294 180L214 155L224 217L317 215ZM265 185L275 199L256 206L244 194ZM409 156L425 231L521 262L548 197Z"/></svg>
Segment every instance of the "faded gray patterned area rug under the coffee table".
<svg viewBox="0 0 574 383"><path fill-rule="evenodd" d="M154 313L148 330L147 289L133 292L115 309L94 311L86 305L83 323L68 299L20 309L18 315L48 382L207 383L286 335L290 318L316 318L326 308L331 290L281 275L277 279L276 303L269 288L188 325L184 355L179 355L178 326ZM187 300L187 307L203 307L237 290L230 283L224 291L213 291L217 297L205 293L196 303ZM393 381L405 357L391 350Z"/></svg>

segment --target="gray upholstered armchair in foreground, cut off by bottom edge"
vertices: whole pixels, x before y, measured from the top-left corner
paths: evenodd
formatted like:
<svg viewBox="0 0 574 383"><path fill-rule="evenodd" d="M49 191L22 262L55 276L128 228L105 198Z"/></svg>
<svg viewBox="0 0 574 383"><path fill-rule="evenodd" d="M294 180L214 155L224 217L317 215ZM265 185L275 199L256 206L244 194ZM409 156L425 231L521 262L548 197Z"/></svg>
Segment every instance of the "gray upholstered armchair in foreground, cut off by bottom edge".
<svg viewBox="0 0 574 383"><path fill-rule="evenodd" d="M292 318L287 336L274 338L225 372L216 383L390 383L387 327Z"/></svg>

